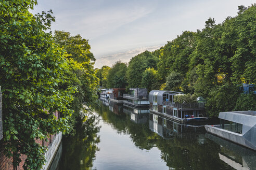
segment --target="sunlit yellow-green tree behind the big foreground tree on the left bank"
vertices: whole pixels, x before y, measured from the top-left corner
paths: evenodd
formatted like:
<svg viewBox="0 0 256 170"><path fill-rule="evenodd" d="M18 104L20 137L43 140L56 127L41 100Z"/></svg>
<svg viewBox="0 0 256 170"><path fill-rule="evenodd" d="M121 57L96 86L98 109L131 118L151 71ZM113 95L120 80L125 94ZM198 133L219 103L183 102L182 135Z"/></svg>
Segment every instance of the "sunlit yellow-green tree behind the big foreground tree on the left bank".
<svg viewBox="0 0 256 170"><path fill-rule="evenodd" d="M57 44L63 47L69 54L68 58L74 60L76 68L74 73L80 80L80 88L83 93L83 101L87 104L93 104L96 100L96 87L98 85L98 78L95 75L94 62L95 58L91 53L91 46L88 40L82 38L80 35L70 36L69 32L55 31L54 39Z"/></svg>

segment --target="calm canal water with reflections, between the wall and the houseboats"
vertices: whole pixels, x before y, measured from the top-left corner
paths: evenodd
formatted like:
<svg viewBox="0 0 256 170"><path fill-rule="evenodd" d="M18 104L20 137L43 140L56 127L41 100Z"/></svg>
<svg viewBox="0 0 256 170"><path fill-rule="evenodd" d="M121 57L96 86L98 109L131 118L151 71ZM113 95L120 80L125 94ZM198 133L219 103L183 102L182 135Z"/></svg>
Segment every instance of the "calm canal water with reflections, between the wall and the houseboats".
<svg viewBox="0 0 256 170"><path fill-rule="evenodd" d="M256 169L256 152L180 124L104 101L63 137L50 169Z"/></svg>

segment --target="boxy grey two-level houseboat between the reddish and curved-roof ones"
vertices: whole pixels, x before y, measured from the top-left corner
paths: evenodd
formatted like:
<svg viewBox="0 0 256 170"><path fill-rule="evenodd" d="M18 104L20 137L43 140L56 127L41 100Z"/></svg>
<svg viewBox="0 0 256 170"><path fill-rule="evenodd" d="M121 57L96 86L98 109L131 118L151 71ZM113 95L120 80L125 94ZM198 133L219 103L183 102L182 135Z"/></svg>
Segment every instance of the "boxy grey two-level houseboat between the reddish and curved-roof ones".
<svg viewBox="0 0 256 170"><path fill-rule="evenodd" d="M130 94L123 94L125 105L135 107L149 107L148 91L144 88L130 88Z"/></svg>

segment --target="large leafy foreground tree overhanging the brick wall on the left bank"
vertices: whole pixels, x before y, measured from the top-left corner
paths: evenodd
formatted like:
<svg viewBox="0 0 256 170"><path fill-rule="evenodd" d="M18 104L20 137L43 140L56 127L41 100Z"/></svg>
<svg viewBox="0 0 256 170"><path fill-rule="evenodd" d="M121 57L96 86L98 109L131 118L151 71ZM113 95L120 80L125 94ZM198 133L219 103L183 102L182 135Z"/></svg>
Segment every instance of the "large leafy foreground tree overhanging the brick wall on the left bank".
<svg viewBox="0 0 256 170"><path fill-rule="evenodd" d="M76 88L70 81L67 53L46 33L52 11L33 16L36 1L1 1L0 84L3 93L5 154L14 168L27 155L24 169L41 169L46 148L36 139L69 129ZM74 77L75 79L75 77ZM56 119L53 112L61 117Z"/></svg>

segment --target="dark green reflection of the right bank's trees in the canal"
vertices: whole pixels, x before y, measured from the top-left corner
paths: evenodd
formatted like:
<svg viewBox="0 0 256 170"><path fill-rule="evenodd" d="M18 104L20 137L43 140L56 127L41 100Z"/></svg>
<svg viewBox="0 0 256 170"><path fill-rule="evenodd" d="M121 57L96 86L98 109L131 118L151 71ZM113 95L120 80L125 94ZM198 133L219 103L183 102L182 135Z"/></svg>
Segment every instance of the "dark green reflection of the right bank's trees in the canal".
<svg viewBox="0 0 256 170"><path fill-rule="evenodd" d="M149 123L136 124L130 121L130 115L116 115L106 106L96 107L103 120L118 133L129 134L134 145L140 149L150 150L153 146L161 150L161 158L170 168L177 169L233 169L220 160L220 145L204 138L203 127L175 126L167 121L163 127L162 118L158 118L161 132L168 132L171 138L165 139L149 129ZM181 130L182 129L182 130Z"/></svg>

